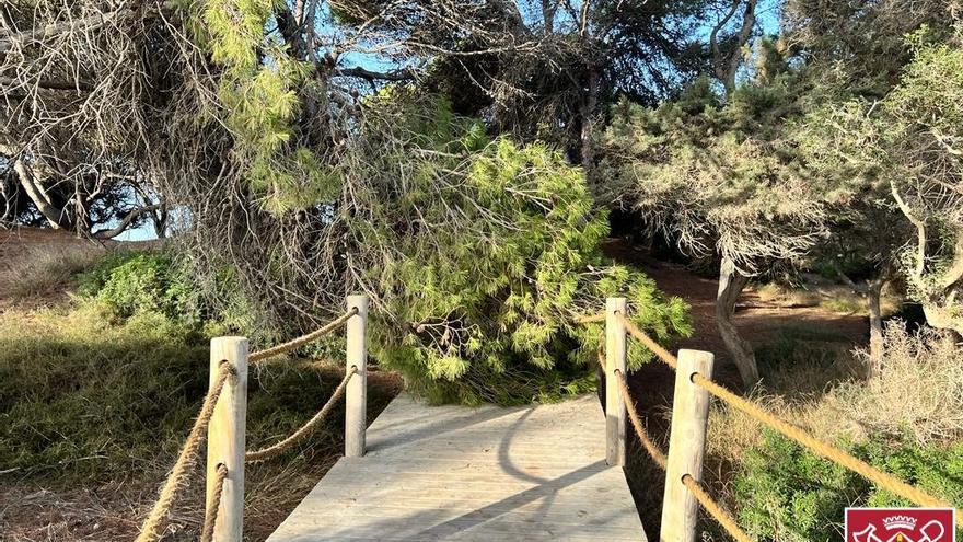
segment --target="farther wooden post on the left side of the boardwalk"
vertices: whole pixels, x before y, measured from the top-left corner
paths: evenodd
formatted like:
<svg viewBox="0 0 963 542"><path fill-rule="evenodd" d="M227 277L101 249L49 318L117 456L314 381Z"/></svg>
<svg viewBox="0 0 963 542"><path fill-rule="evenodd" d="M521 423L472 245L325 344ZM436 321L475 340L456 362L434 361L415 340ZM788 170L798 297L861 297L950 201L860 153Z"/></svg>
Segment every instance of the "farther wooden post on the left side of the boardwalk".
<svg viewBox="0 0 963 542"><path fill-rule="evenodd" d="M347 370L357 372L345 389L345 457L364 455L364 431L368 426L368 296L348 296L348 310L358 314L347 325Z"/></svg>

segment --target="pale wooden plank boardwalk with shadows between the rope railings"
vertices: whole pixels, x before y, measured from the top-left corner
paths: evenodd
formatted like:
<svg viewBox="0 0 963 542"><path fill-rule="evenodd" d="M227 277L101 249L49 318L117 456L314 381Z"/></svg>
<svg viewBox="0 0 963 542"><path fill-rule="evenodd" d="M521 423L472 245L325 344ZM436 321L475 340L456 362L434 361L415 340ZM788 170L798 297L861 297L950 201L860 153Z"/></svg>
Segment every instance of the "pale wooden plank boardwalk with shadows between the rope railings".
<svg viewBox="0 0 963 542"><path fill-rule="evenodd" d="M517 408L396 397L268 542L646 541L593 395Z"/></svg>

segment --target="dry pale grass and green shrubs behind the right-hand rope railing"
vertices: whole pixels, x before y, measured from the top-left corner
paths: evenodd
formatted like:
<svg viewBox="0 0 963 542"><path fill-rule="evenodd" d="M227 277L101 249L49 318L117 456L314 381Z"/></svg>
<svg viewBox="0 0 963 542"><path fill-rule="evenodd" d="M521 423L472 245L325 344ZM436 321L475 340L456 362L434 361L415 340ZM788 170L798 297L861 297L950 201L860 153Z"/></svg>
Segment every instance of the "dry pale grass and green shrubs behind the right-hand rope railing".
<svg viewBox="0 0 963 542"><path fill-rule="evenodd" d="M757 349L764 379L752 399L878 469L963 505L961 345L894 320L884 335L881 374L867 380L866 353L842 339L832 330L786 330ZM723 405L712 406L708 448L709 461L729 471L715 481L715 492L759 541L840 540L847 506L914 506ZM713 522L706 529L712 540L724 540Z"/></svg>

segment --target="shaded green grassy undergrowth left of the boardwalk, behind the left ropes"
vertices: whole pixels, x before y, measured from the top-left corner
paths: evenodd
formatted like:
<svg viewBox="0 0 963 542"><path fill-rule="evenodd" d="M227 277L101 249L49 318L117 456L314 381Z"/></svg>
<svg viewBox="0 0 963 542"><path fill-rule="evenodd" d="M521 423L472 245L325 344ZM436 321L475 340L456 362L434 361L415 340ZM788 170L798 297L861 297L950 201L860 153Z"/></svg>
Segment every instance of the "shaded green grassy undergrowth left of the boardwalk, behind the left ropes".
<svg viewBox="0 0 963 542"><path fill-rule="evenodd" d="M68 305L12 309L0 320L0 465L8 481L66 486L164 472L207 391L209 332L222 323L196 302L183 268L163 253L114 254L85 268ZM272 443L306 422L340 377L340 368L304 362L252 370L250 446ZM392 394L370 390L375 412ZM338 406L301 451L340 441L343 424Z"/></svg>

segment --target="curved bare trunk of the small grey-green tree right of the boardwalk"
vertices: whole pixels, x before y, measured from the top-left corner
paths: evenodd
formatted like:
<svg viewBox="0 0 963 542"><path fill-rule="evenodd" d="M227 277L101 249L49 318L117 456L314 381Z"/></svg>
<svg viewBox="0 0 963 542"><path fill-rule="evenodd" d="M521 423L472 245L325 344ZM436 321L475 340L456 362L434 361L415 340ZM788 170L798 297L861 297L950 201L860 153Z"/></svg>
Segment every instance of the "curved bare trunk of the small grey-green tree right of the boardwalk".
<svg viewBox="0 0 963 542"><path fill-rule="evenodd" d="M732 356L742 382L746 388L754 385L759 381L759 369L756 366L756 357L753 353L752 345L739 335L739 330L732 323L732 316L735 314L735 302L739 295L742 293L745 285L749 284L749 277L741 275L735 270L735 264L728 257L722 257L722 265L719 267L719 293L716 297L716 323L719 326L719 334L726 348Z"/></svg>

